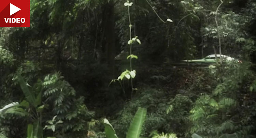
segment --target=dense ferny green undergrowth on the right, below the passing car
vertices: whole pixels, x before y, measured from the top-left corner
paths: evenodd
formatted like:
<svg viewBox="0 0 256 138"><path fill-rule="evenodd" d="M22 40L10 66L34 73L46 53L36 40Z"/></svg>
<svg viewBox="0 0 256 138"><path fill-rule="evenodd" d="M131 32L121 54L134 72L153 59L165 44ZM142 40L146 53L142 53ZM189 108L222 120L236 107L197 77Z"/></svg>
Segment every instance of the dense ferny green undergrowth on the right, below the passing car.
<svg viewBox="0 0 256 138"><path fill-rule="evenodd" d="M204 138L226 134L239 138L250 136L254 129L250 120L255 115L241 113L245 109L244 102L248 100L244 96L250 94L247 83L255 78L248 66L246 63L229 63L209 67L209 71L215 76L212 81L217 82L217 85L212 93L202 92L190 110L190 134L197 133ZM255 99L255 96L252 98ZM246 106L252 105L255 103Z"/></svg>

